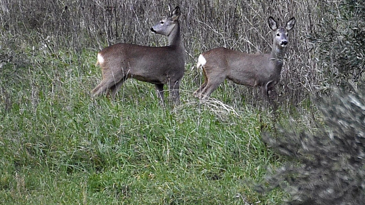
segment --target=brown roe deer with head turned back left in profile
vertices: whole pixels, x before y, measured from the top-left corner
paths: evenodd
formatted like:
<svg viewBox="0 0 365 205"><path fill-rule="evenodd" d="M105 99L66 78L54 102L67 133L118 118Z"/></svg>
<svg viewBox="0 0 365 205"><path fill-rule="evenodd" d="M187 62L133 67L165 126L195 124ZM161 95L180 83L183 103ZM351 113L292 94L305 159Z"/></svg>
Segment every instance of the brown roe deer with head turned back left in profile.
<svg viewBox="0 0 365 205"><path fill-rule="evenodd" d="M103 80L93 90L93 96L105 93L115 98L127 78L155 84L157 97L164 102L164 84L169 83L170 97L175 104L180 102L179 85L184 75L185 49L180 32L180 7L151 27L155 34L165 35L168 46L150 47L117 43L97 54Z"/></svg>

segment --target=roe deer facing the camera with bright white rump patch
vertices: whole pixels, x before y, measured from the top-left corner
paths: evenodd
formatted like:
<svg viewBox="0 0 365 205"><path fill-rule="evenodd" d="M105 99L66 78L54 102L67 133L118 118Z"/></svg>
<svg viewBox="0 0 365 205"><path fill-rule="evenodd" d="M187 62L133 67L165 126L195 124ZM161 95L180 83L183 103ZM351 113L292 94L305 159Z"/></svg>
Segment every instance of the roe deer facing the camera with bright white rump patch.
<svg viewBox="0 0 365 205"><path fill-rule="evenodd" d="M204 83L194 93L195 97L207 99L224 79L247 86L260 86L263 97L280 80L284 47L288 31L292 30L295 18L285 28L278 27L270 16L269 27L273 31L273 46L270 54L248 54L226 48L215 48L199 55L197 68L203 67Z"/></svg>

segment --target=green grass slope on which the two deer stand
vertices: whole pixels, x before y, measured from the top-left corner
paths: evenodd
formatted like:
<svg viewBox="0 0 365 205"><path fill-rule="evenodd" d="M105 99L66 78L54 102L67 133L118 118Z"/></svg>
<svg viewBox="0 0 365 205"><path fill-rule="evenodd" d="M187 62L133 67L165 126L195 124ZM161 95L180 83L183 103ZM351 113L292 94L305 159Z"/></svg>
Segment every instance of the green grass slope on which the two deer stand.
<svg viewBox="0 0 365 205"><path fill-rule="evenodd" d="M284 162L260 139L270 117L244 104L200 104L189 68L181 105L165 93L164 109L154 86L135 80L115 101L92 99L101 76L94 51L40 44L8 52L14 58L0 69L0 204L281 201L279 190L260 195L249 186ZM234 94L212 97L231 102Z"/></svg>

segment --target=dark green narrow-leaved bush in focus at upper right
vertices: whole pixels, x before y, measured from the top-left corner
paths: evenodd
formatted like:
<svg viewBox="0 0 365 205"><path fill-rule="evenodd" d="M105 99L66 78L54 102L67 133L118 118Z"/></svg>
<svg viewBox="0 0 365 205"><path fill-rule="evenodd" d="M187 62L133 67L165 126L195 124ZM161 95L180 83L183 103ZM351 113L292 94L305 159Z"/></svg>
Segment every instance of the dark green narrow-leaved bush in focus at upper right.
<svg viewBox="0 0 365 205"><path fill-rule="evenodd" d="M347 86L361 82L365 65L365 5L361 1L322 1L322 21L312 41L320 81L324 88L331 85Z"/></svg>

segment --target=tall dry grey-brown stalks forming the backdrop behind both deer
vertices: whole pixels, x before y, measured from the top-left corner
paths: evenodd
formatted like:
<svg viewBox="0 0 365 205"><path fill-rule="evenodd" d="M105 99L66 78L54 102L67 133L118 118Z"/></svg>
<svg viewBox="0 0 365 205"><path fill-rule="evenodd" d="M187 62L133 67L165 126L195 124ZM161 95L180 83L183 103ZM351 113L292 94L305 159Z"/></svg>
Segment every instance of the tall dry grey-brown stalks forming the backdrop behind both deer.
<svg viewBox="0 0 365 205"><path fill-rule="evenodd" d="M172 2L173 4L175 2ZM165 14L167 1L2 1L3 32L28 36L32 41L49 39L55 51L64 47L78 51L91 48L95 52L117 42L163 46L165 38L154 36L149 28ZM176 4L176 3L175 3ZM190 69L197 56L209 49L224 46L250 53L269 52L271 35L269 15L285 23L295 16L297 23L289 39L283 67L283 81L277 92L284 104L296 104L308 93L322 89L322 69L314 57L315 46L308 37L320 30L321 2L306 1L234 1L203 0L179 2L187 63ZM49 37L48 37L49 36ZM9 54L12 55L12 54ZM185 78L193 78L198 86L200 70L193 69ZM234 87L235 89L232 89ZM230 85L242 99L254 99L256 89ZM253 95L254 94L254 95ZM260 99L260 98L259 98Z"/></svg>

